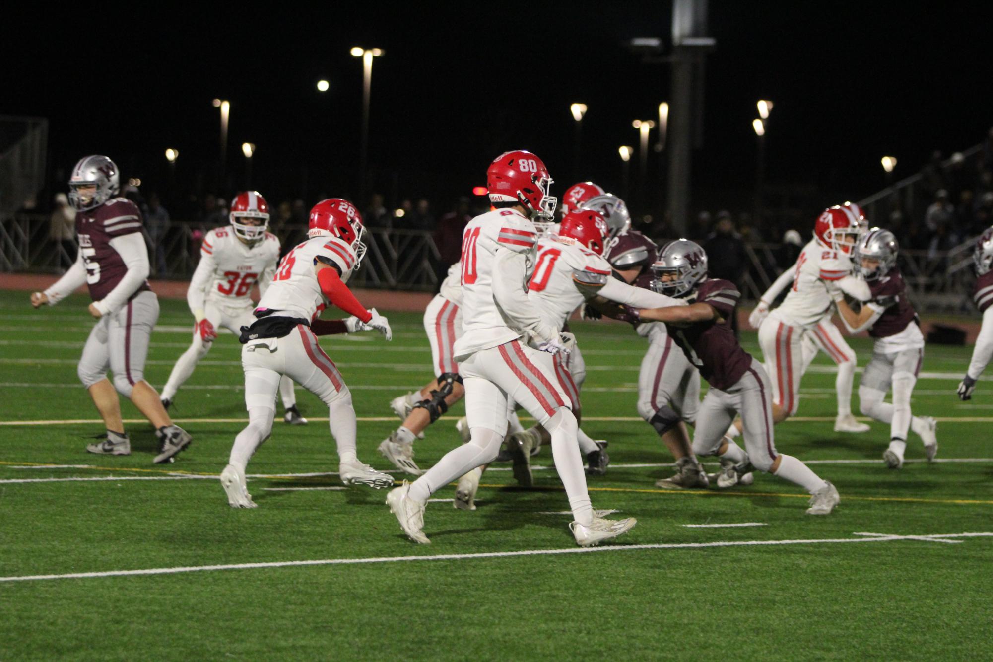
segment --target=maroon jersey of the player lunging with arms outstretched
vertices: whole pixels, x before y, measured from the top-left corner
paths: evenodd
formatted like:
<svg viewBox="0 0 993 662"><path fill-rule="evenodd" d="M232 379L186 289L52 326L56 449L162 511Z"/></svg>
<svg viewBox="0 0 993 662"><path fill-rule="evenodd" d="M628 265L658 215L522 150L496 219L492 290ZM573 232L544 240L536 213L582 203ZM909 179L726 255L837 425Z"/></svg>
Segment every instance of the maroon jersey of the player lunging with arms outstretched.
<svg viewBox="0 0 993 662"><path fill-rule="evenodd" d="M752 355L742 349L731 329L731 316L741 296L731 281L707 279L697 288L695 301L689 301L713 306L724 321L698 322L689 327L666 325L689 362L711 386L721 390L734 386L752 365Z"/></svg>

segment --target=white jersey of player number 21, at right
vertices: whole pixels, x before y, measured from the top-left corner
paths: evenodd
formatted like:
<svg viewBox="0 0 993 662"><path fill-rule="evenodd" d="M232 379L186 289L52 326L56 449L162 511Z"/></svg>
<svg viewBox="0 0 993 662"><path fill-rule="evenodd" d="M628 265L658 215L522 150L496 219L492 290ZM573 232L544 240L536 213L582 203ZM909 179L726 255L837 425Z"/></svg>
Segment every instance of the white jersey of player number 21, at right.
<svg viewBox="0 0 993 662"><path fill-rule="evenodd" d="M812 329L831 310L828 281L840 281L852 273L851 258L811 239L796 259L795 278L786 298L776 309L780 319L791 326Z"/></svg>

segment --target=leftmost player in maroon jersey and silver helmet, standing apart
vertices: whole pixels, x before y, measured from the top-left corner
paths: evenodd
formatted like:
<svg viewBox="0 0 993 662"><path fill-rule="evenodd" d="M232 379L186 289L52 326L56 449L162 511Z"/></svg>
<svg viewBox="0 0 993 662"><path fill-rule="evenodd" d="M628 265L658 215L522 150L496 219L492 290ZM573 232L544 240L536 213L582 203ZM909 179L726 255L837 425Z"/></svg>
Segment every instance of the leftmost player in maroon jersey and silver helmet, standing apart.
<svg viewBox="0 0 993 662"><path fill-rule="evenodd" d="M173 424L159 394L145 381L148 341L159 319L159 300L148 286L148 248L141 233L141 212L134 202L118 198L120 172L105 156L87 156L72 168L69 199L76 210L79 253L69 271L45 292L31 295L35 308L54 306L83 283L97 320L86 338L77 373L106 427L90 453L131 454L117 393L129 398L155 426L159 453L155 463L172 462L186 449L190 435ZM107 379L107 369L113 382ZM115 392L115 389L117 392Z"/></svg>

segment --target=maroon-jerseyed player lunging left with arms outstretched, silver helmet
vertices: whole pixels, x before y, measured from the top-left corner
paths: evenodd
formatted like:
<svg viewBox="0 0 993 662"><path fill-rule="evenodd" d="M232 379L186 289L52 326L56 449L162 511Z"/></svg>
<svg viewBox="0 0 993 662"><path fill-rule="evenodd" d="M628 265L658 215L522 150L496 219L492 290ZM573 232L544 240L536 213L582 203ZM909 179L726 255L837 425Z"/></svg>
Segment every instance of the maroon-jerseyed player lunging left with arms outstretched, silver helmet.
<svg viewBox="0 0 993 662"><path fill-rule="evenodd" d="M754 466L800 485L811 495L807 514L830 513L840 500L834 485L796 458L776 452L769 376L731 330L730 316L741 297L738 288L730 281L708 279L707 254L686 239L665 244L651 270L653 290L689 305L634 309L635 316L664 322L710 384L697 413L693 451L698 457L717 455L734 463L739 474ZM747 452L724 435L735 413L744 423Z"/></svg>

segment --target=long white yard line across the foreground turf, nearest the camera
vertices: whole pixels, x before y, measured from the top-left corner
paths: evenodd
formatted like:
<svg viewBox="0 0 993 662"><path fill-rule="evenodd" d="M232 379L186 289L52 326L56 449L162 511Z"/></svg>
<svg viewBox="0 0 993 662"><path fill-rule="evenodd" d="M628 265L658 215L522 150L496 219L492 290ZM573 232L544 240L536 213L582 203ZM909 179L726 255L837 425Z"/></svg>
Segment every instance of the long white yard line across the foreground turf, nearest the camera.
<svg viewBox="0 0 993 662"><path fill-rule="evenodd" d="M270 561L265 563L231 563L213 566L180 566L176 568L146 568L141 570L111 570L94 573L66 573L62 575L15 575L0 577L0 582L37 582L42 580L76 580L101 577L130 577L135 575L177 575L214 570L255 570L261 568L294 568L302 566L351 566L358 564L397 563L404 561L462 561L466 559L505 559L521 556L551 556L558 554L597 554L632 552L636 550L699 549L706 547L766 547L775 545L830 545L844 543L885 543L896 540L923 542L950 542L949 538L993 537L993 533L948 533L927 535L889 535L861 533L859 538L819 538L809 540L737 540L711 543L670 543L655 545L615 545L609 547L570 547L553 550L522 550L518 552L480 552L476 554L434 554L425 556L373 557L368 559L321 559L313 561ZM957 542L957 541L956 541Z"/></svg>

